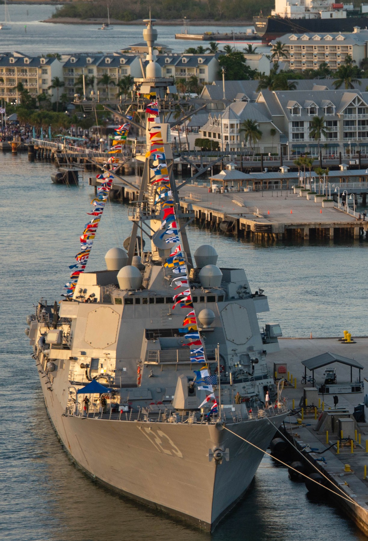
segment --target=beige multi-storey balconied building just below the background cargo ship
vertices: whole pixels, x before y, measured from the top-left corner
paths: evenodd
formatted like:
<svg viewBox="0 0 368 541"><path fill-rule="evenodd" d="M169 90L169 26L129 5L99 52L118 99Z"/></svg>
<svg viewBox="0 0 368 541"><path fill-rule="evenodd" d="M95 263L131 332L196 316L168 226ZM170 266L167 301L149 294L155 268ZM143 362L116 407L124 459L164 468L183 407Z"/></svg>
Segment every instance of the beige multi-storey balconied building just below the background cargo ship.
<svg viewBox="0 0 368 541"><path fill-rule="evenodd" d="M305 71L318 69L322 62L326 62L330 69L337 70L344 64L347 55L350 55L357 65L366 58L368 30L355 27L352 34L346 32L285 34L271 42L273 47L276 41L283 44L287 56L286 58L280 56L280 61L286 62L287 68ZM277 57L274 61L277 61Z"/></svg>

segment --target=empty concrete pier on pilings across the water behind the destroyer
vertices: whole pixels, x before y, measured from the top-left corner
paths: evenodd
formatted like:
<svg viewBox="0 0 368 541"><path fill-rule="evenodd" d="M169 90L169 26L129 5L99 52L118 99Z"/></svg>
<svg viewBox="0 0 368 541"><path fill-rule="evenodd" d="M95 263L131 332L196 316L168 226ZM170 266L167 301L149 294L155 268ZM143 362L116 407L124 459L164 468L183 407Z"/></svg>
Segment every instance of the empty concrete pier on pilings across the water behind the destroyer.
<svg viewBox="0 0 368 541"><path fill-rule="evenodd" d="M180 205L184 212L193 211L195 217L208 225L227 225L223 231L253 240L286 240L334 237L359 238L368 228L364 216L353 216L338 208L337 203L323 197L317 202L301 197L293 190L261 190L246 193L209 193L208 188L190 186L180 190ZM341 203L341 199L340 199Z"/></svg>

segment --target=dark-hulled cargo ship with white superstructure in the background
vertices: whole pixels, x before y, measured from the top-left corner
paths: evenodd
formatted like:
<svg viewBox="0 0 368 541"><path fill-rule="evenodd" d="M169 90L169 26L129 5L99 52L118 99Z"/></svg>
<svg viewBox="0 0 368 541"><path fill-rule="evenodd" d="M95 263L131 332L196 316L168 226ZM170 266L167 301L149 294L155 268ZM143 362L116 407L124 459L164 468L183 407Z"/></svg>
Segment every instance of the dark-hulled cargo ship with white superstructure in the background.
<svg viewBox="0 0 368 541"><path fill-rule="evenodd" d="M269 43L289 32L353 32L368 25L368 4L358 10L353 4L328 0L275 0L269 17L253 17L256 32Z"/></svg>

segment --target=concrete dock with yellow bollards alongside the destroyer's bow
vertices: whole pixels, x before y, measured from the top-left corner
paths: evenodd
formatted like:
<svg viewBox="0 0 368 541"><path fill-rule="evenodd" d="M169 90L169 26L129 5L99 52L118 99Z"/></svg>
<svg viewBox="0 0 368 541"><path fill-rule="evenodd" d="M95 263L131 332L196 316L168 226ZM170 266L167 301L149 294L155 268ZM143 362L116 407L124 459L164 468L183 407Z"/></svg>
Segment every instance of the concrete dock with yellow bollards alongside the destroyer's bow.
<svg viewBox="0 0 368 541"><path fill-rule="evenodd" d="M366 356L366 350L368 347L368 338L355 338L356 344L341 345L338 338L318 338L318 339L279 339L280 351L276 353L270 353L267 357L269 370L273 371L274 362L282 362L287 365L287 372L289 378L293 375L293 384L289 384L283 391L283 394L288 396L289 407L292 407L292 401L294 399L295 408L300 405L300 400L304 397L304 388L311 388L312 384L301 384L301 377L304 375L304 366L301 365L301 361L309 359L325 353L327 351L339 353L350 359L357 360L364 366L365 370L362 374L368 378L368 359ZM343 351L341 351L343 349ZM331 365L330 365L331 366ZM346 365L332 365L337 368L338 383L341 385L343 382L350 382L351 369ZM324 370L325 368L319 368L315 370L314 377L316 380L315 386L324 382ZM354 369L353 369L354 370ZM367 374L365 374L367 371ZM285 374L287 378L287 373ZM296 388L294 387L294 378L296 377ZM365 381L368 384L368 380ZM335 393L333 393L335 394ZM333 413L339 417L339 411L352 414L354 406L362 403L364 400L365 391L361 393L337 393L339 402L337 410L334 408L333 394L318 395L320 398L319 404L311 404L308 402L307 408L304 407L304 413L302 424L299 425L297 419L301 419L301 413L290 416L290 422L285 421L286 434L290 441L295 442L296 447L299 448L311 461L312 464L317 466L318 470L323 473L331 481L327 480L326 486L328 488L339 492L336 487L339 487L346 494L346 497L352 498L355 505L352 502L340 498L338 495L334 496L331 492L325 491L322 487L319 489L320 497L326 499L332 497L333 502L338 505L348 517L350 517L354 523L357 524L359 529L368 536L368 478L365 479L365 468L368 466L368 452L366 452L366 440L368 440L368 423L356 423L357 427L357 439L355 433L343 434L344 437L350 436L353 440L353 453L351 452L351 444L344 446L339 445L339 453L337 453L337 441L340 437L336 426L334 432L328 433L328 444L326 443L326 432L316 431L318 419L322 413L322 400L324 401L324 411ZM314 406L317 407L317 419L315 419ZM340 408L340 409L339 409ZM367 408L365 408L367 411ZM341 417L347 417L347 414L341 413ZM360 434L360 444L359 444ZM327 447L335 444L330 450L327 451ZM318 454L321 451L326 450L322 454ZM324 460L321 460L324 457ZM299 456L296 460L300 460ZM350 466L350 472L345 471L345 464ZM309 467L309 471L315 470Z"/></svg>

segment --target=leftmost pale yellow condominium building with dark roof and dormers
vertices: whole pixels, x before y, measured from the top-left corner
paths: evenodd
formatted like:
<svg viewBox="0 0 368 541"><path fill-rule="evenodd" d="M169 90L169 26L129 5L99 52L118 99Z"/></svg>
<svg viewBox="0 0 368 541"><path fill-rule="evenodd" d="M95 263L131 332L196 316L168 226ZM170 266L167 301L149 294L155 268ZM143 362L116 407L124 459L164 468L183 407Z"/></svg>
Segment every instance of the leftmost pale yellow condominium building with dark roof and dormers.
<svg viewBox="0 0 368 541"><path fill-rule="evenodd" d="M0 98L7 102L20 103L16 89L22 83L32 97L47 94L56 101L56 89L49 89L54 77L62 80L62 63L57 58L33 57L20 52L0 56Z"/></svg>

